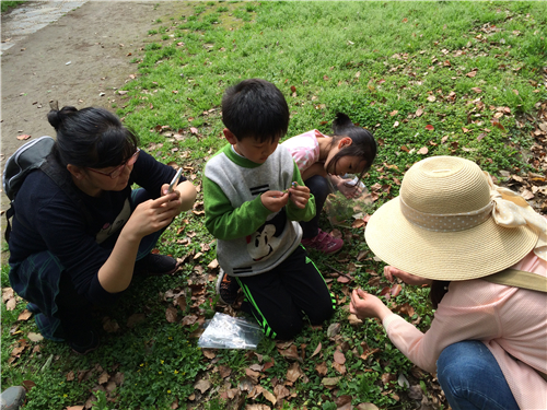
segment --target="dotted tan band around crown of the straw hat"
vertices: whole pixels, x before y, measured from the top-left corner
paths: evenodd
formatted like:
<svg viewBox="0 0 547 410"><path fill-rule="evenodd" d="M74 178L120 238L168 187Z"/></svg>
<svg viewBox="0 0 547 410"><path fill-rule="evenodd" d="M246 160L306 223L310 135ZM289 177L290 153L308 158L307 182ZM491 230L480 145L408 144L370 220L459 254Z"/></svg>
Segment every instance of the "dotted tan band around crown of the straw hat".
<svg viewBox="0 0 547 410"><path fill-rule="evenodd" d="M458 232L480 225L491 216L493 201L486 207L472 212L463 213L426 213L405 203L399 196L400 211L408 222L433 232Z"/></svg>

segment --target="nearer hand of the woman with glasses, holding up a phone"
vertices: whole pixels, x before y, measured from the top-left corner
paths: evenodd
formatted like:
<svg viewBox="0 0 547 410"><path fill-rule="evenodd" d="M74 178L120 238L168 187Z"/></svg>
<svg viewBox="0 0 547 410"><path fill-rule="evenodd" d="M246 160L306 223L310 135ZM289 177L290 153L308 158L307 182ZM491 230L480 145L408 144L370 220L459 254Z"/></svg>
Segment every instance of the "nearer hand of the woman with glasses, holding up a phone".
<svg viewBox="0 0 547 410"><path fill-rule="evenodd" d="M167 226L178 212L179 195L173 192L139 203L124 226L125 234L140 241Z"/></svg>

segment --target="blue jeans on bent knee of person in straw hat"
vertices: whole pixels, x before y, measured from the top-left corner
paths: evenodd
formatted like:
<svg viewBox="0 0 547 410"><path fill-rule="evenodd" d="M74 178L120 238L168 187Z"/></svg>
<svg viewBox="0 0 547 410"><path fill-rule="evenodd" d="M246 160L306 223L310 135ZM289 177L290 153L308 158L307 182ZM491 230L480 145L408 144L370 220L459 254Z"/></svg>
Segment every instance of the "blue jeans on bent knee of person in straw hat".
<svg viewBox="0 0 547 410"><path fill-rule="evenodd" d="M480 341L445 348L437 361L437 377L453 410L519 410L496 358Z"/></svg>

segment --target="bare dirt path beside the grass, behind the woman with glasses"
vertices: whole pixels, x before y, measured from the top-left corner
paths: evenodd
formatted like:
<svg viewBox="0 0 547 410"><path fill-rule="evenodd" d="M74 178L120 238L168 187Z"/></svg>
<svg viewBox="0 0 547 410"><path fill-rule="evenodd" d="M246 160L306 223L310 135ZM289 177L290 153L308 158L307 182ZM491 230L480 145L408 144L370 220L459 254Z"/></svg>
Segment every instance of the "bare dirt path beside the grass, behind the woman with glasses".
<svg viewBox="0 0 547 410"><path fill-rule="evenodd" d="M171 1L88 1L34 34L12 38L16 43L1 56L2 171L5 159L25 142L18 136L54 136L46 118L50 99L110 109L115 90L137 72L130 61L143 54L139 49L148 31L158 27L153 22L177 19L190 8ZM3 25L2 40L8 35ZM4 210L7 198L1 198Z"/></svg>

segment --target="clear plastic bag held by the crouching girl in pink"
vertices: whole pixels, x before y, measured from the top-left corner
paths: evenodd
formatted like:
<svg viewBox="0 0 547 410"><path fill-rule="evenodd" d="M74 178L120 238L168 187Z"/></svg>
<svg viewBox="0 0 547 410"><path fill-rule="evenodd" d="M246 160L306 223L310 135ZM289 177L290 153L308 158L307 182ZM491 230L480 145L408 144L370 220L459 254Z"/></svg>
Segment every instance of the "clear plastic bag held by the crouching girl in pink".
<svg viewBox="0 0 547 410"><path fill-rule="evenodd" d="M346 185L356 186L358 177L353 175L345 175L347 180ZM333 192L327 196L324 210L327 214L328 221L333 225L350 227L352 219L363 218L365 213L372 213L373 200L372 196L363 183L359 183L357 188L359 196L347 198L341 191L333 186Z"/></svg>

